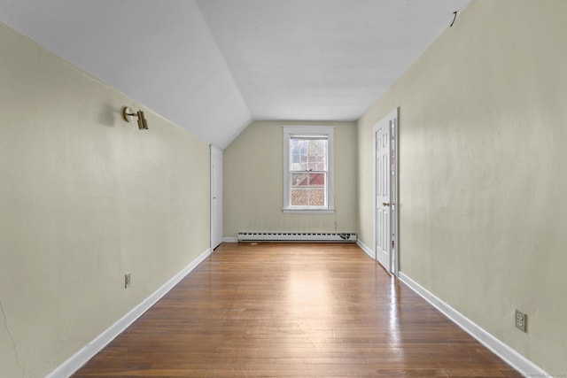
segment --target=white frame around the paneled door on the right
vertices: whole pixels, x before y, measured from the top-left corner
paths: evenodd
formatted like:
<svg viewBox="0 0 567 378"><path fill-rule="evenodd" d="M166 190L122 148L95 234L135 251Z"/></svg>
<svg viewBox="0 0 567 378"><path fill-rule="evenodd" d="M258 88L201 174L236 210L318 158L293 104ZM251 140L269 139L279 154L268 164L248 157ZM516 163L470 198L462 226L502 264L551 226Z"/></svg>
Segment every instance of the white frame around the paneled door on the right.
<svg viewBox="0 0 567 378"><path fill-rule="evenodd" d="M377 145L376 145L376 133L380 127L384 126L384 123L391 126L390 121L394 121L394 127L390 129L390 149L392 150L392 154L390 155L390 167L392 168L392 158L394 161L394 170L393 170L393 177L391 178L392 185L391 185L391 192L390 192L390 202L393 202L393 205L390 208L390 243L392 243L393 248L390 251L390 266L384 266L386 271L390 274L398 276L400 274L400 107L396 108L392 112L389 112L383 119L379 120L373 127L373 146L374 151L373 155L373 210L372 213L374 215L373 219L373 234L374 234L374 242L373 242L373 250L374 250L374 258L377 259ZM393 188L392 188L393 187Z"/></svg>

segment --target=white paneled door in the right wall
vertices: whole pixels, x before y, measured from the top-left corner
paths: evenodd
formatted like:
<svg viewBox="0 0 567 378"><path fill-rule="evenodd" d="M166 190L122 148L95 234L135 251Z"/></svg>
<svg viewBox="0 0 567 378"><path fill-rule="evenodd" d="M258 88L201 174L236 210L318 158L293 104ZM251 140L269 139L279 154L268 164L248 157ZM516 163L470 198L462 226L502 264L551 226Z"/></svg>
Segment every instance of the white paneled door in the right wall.
<svg viewBox="0 0 567 378"><path fill-rule="evenodd" d="M397 178L395 157L397 150L398 110L388 114L374 127L375 135L375 248L376 258L389 272L397 274L396 223L394 198L397 188L392 185Z"/></svg>

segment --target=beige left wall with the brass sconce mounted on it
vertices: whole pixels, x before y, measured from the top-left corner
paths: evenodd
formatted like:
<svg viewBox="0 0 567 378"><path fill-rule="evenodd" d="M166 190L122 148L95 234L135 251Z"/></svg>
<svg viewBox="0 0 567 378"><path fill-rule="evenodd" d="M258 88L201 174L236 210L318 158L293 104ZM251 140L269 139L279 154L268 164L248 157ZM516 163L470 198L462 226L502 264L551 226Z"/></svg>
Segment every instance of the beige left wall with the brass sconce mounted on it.
<svg viewBox="0 0 567 378"><path fill-rule="evenodd" d="M1 24L0 46L0 376L43 377L207 250L209 149Z"/></svg>

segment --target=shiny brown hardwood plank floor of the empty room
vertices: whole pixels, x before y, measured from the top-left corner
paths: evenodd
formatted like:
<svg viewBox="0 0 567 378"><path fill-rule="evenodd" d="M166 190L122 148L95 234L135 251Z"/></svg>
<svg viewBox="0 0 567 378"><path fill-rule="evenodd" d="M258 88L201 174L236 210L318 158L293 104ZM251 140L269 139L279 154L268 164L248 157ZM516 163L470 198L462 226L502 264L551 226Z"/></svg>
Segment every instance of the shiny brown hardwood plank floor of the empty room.
<svg viewBox="0 0 567 378"><path fill-rule="evenodd" d="M520 377L355 244L222 244L74 377Z"/></svg>

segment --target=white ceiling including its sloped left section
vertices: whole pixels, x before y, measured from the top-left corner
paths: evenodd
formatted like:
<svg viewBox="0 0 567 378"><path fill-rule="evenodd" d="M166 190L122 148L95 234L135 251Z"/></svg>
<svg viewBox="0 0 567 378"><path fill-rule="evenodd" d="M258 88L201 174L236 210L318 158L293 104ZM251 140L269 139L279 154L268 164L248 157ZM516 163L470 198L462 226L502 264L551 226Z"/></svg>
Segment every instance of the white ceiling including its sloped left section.
<svg viewBox="0 0 567 378"><path fill-rule="evenodd" d="M0 21L225 148L252 120L357 120L469 1L0 0Z"/></svg>

